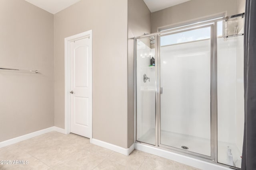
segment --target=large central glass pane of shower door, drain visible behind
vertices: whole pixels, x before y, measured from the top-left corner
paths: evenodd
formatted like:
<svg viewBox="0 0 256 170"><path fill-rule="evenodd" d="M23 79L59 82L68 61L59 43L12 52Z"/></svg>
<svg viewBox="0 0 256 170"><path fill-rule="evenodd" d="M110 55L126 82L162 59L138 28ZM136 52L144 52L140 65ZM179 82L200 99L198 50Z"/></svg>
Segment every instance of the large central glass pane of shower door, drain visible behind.
<svg viewBox="0 0 256 170"><path fill-rule="evenodd" d="M159 36L159 146L213 158L213 25Z"/></svg>

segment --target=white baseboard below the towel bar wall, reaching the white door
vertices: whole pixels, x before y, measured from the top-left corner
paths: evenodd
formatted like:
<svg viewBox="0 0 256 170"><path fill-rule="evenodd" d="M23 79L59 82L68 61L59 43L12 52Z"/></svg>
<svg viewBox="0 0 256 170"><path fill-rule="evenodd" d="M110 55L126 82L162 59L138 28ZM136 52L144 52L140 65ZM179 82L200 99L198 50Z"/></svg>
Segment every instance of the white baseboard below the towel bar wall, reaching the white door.
<svg viewBox="0 0 256 170"><path fill-rule="evenodd" d="M2 142L0 142L0 148L6 147L8 145L12 145L14 143L18 143L20 141L24 141L26 139L30 139L32 137L43 135L45 133L49 133L49 132L52 132L52 131L57 131L59 133L65 133L64 129L53 126L53 127L49 127L49 128L46 128L46 129L42 129L40 131L36 131L36 132L28 133L26 135L22 135L22 136L19 136L19 137L16 137L16 138L12 138L12 139L9 139L7 141L2 141Z"/></svg>

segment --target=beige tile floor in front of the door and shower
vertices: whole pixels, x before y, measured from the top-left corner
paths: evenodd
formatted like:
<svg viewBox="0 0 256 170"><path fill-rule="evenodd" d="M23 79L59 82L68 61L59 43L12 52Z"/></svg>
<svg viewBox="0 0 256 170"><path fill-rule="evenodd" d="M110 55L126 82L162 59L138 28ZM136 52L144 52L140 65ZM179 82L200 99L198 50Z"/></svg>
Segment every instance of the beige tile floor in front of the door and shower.
<svg viewBox="0 0 256 170"><path fill-rule="evenodd" d="M198 170L134 150L129 156L90 143L79 135L50 132L0 149L0 170Z"/></svg>

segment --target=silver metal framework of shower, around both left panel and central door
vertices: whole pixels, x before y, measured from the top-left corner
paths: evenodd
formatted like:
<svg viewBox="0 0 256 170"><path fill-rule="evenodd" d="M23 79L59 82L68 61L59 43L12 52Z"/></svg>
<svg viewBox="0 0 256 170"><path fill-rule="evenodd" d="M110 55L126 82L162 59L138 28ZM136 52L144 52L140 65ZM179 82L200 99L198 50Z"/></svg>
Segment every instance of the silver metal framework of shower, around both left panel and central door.
<svg viewBox="0 0 256 170"><path fill-rule="evenodd" d="M217 152L218 152L218 139L217 139L217 22L224 20L224 17L222 19L216 18L216 20L210 20L210 21L205 21L203 23L198 23L194 25L188 25L188 26L183 26L183 27L178 27L174 28L172 30L167 30L167 31L162 31L162 32L157 32L157 33L151 33L147 35L142 35L139 37L134 37L134 94L135 94L135 101L134 101L134 111L135 111L135 142L136 143L144 143L137 141L137 39L140 38L145 38L145 37L150 37L150 36L155 36L155 74L156 74L156 143L155 145L144 143L145 145L150 145L154 147L160 147L162 149L168 149L173 152L177 152L183 155L191 156L193 158L199 158L202 160L206 160L209 162L215 162L216 164L221 164L218 163L217 159ZM184 32L184 31L189 31L193 29L198 29L202 27L211 27L211 156L205 156L202 154L198 154L195 152L189 152L183 149L177 149L174 147L162 147L160 144L160 41L159 37L163 35L168 35L168 34L174 34L178 32ZM159 80L158 80L159 79ZM230 167L225 164L221 164L222 166Z"/></svg>

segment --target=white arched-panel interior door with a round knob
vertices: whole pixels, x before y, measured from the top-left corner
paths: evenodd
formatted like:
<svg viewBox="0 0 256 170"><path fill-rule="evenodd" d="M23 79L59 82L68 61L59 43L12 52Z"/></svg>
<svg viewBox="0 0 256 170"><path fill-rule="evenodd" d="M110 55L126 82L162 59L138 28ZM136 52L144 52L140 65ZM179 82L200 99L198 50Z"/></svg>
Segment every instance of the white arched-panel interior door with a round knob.
<svg viewBox="0 0 256 170"><path fill-rule="evenodd" d="M90 138L91 43L89 37L70 42L70 131Z"/></svg>

